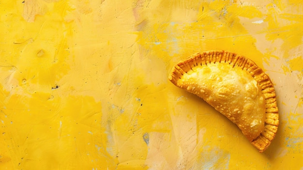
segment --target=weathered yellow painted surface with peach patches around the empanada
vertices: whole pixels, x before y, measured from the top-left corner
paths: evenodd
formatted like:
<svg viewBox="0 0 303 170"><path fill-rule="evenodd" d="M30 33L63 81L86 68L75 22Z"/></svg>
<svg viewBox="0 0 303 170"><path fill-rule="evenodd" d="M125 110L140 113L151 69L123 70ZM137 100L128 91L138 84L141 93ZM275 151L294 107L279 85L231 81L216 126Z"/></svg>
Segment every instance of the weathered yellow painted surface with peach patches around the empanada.
<svg viewBox="0 0 303 170"><path fill-rule="evenodd" d="M303 170L302 0L1 0L0 170ZM229 50L271 77L260 154L179 60Z"/></svg>

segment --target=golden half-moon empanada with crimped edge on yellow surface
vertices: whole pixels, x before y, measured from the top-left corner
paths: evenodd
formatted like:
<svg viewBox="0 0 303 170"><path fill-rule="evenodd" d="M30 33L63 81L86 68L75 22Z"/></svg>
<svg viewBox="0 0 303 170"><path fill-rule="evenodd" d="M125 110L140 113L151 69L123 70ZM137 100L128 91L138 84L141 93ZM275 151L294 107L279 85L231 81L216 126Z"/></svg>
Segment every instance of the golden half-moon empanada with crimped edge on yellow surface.
<svg viewBox="0 0 303 170"><path fill-rule="evenodd" d="M263 152L279 125L275 91L255 62L228 51L206 51L177 63L168 79L203 98L237 124Z"/></svg>

